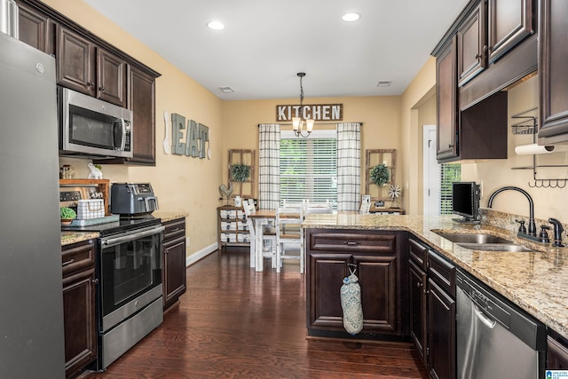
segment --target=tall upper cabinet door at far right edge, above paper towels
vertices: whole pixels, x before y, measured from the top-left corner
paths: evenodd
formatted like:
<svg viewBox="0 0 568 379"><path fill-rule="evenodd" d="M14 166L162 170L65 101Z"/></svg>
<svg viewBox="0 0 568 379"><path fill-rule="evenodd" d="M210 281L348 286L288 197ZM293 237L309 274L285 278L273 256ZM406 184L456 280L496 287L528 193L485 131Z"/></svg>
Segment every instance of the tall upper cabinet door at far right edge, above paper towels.
<svg viewBox="0 0 568 379"><path fill-rule="evenodd" d="M568 2L540 0L539 143L568 141Z"/></svg>

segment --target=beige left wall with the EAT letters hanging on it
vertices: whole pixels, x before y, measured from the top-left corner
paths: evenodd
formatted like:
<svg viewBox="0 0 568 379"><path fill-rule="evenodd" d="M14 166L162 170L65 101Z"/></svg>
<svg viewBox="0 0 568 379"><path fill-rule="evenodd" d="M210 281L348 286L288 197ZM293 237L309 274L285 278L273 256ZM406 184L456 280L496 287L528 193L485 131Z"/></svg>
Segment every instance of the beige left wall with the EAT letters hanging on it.
<svg viewBox="0 0 568 379"><path fill-rule="evenodd" d="M187 236L191 241L187 254L210 249L210 245L217 242L215 209L220 205L218 186L225 162L222 101L87 4L68 0L43 2L162 74L156 80L156 166L103 165L104 178L111 182L150 182L158 196L160 209L189 213ZM209 126L210 160L164 154L163 113L166 110ZM88 162L91 161L60 159L61 164L70 163L75 167L77 178L87 177Z"/></svg>

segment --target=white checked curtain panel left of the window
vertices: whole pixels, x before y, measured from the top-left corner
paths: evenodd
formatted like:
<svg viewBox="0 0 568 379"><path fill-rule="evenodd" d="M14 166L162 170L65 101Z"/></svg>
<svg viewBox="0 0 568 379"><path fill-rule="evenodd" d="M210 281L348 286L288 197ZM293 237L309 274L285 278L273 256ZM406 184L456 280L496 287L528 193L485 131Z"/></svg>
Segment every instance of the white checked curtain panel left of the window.
<svg viewBox="0 0 568 379"><path fill-rule="evenodd" d="M258 141L258 208L277 209L280 204L280 124L259 124Z"/></svg>

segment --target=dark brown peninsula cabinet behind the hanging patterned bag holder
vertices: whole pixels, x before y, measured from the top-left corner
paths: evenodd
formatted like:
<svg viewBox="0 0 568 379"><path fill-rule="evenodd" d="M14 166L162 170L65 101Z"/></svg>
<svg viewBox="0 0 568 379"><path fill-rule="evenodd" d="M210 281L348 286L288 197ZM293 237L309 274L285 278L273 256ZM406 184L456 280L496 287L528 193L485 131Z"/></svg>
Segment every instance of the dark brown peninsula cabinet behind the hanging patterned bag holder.
<svg viewBox="0 0 568 379"><path fill-rule="evenodd" d="M404 235L403 235L404 234ZM361 286L363 330L373 336L407 336L407 301L400 257L405 233L308 229L306 231L307 328L311 336L347 335L340 289L355 269ZM406 279L406 274L404 275ZM406 283L406 280L405 280ZM404 313L404 315L403 315ZM327 334L329 333L329 334Z"/></svg>

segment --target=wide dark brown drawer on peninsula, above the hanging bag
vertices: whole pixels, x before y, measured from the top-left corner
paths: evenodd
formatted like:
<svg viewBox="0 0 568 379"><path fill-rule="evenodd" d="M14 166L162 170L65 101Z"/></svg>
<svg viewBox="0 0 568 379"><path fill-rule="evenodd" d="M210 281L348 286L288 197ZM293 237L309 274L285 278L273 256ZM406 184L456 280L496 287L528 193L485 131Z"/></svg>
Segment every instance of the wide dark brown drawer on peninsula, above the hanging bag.
<svg viewBox="0 0 568 379"><path fill-rule="evenodd" d="M308 247L312 251L343 251L348 253L396 254L396 236L353 231L315 231L308 233Z"/></svg>

